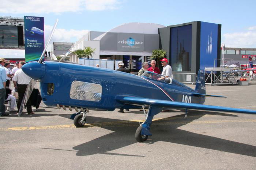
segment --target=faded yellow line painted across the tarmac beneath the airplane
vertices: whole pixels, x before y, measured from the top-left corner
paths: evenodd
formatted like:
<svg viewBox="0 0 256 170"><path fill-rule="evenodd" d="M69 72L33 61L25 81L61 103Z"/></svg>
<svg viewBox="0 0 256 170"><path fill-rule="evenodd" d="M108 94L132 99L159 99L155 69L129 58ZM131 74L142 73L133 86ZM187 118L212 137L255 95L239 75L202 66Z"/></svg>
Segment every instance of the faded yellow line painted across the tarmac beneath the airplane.
<svg viewBox="0 0 256 170"><path fill-rule="evenodd" d="M164 120L168 120L164 119ZM159 119L154 119L159 120ZM85 124L83 128L88 127L126 127L126 126L139 126L137 122L143 122L144 120L132 120L132 121L120 121L120 122L105 122L105 123L92 123ZM182 122L154 122L153 125L172 125L172 124L210 124L210 123L248 123L256 122L256 119L247 120L205 120L205 121L182 121ZM1 128L0 131L12 131L12 130L39 130L39 129L63 129L63 128L75 128L74 124L67 125L55 125L55 126L35 126L35 127L10 127Z"/></svg>

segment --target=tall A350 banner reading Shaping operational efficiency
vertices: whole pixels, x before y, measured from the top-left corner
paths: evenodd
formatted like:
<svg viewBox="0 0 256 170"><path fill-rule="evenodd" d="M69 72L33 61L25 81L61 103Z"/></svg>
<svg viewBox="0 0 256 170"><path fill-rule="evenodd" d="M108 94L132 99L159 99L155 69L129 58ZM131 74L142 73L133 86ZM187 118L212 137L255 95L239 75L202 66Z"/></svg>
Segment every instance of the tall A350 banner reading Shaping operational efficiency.
<svg viewBox="0 0 256 170"><path fill-rule="evenodd" d="M44 50L44 17L24 16L25 60L38 61Z"/></svg>

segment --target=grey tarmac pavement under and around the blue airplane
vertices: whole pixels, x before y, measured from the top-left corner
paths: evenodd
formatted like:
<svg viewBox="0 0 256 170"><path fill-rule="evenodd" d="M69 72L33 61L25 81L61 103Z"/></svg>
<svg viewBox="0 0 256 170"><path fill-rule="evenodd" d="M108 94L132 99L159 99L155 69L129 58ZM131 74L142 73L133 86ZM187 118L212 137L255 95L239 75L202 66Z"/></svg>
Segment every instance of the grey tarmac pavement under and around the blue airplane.
<svg viewBox="0 0 256 170"><path fill-rule="evenodd" d="M192 87L192 86L191 86ZM256 110L256 85L206 86L205 104ZM154 116L152 137L138 143L145 119L131 109L90 111L76 128L75 111L41 103L34 115L0 117L0 169L256 169L256 115L171 110Z"/></svg>

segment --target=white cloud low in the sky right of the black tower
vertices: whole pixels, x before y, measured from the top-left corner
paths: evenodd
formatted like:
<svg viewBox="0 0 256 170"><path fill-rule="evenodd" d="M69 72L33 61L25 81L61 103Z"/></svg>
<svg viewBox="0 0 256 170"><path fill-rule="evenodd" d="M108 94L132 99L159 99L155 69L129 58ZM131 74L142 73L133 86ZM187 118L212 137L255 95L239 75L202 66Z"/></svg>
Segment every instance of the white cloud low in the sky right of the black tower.
<svg viewBox="0 0 256 170"><path fill-rule="evenodd" d="M226 47L256 48L256 27L249 27L245 32L223 34L223 43Z"/></svg>

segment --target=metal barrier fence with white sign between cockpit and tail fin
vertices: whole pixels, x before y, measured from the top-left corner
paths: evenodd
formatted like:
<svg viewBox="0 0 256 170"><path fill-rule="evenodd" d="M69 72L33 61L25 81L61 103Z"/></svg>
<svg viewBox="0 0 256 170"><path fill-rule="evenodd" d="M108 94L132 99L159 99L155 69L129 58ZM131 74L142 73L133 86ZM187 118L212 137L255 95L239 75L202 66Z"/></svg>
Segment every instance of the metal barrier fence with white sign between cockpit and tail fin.
<svg viewBox="0 0 256 170"><path fill-rule="evenodd" d="M195 73L172 73L172 79L180 83L196 83Z"/></svg>

